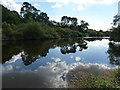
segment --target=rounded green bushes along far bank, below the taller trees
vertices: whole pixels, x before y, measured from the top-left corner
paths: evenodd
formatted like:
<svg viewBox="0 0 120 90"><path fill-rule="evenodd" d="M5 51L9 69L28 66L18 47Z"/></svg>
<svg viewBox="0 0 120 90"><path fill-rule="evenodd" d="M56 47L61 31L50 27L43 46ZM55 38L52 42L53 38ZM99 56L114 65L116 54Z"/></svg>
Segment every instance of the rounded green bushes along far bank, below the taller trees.
<svg viewBox="0 0 120 90"><path fill-rule="evenodd" d="M6 22L2 24L3 40L18 39L54 39L82 37L79 31L61 27L50 27L44 23L29 22L19 25L10 25Z"/></svg>

